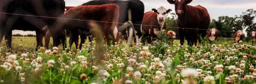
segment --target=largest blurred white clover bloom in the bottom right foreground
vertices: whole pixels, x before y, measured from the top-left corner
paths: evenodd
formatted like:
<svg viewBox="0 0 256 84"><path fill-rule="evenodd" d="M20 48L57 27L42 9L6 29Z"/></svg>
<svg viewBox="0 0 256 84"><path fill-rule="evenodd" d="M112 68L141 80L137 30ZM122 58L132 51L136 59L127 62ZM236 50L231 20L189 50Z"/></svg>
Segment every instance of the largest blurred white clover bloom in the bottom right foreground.
<svg viewBox="0 0 256 84"><path fill-rule="evenodd" d="M197 77L198 72L195 69L187 68L187 69L182 70L181 75L183 77Z"/></svg>

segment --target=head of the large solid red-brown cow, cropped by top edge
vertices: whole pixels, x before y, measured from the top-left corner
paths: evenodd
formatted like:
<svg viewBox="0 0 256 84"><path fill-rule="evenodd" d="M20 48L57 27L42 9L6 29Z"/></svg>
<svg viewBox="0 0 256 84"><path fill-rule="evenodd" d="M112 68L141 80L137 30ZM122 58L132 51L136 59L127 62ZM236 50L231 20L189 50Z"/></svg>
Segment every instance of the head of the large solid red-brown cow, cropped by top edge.
<svg viewBox="0 0 256 84"><path fill-rule="evenodd" d="M184 8L187 4L193 0L167 0L169 3L175 5L175 12L177 15L182 15L184 13Z"/></svg>

